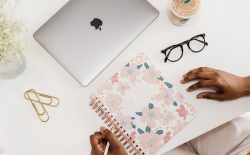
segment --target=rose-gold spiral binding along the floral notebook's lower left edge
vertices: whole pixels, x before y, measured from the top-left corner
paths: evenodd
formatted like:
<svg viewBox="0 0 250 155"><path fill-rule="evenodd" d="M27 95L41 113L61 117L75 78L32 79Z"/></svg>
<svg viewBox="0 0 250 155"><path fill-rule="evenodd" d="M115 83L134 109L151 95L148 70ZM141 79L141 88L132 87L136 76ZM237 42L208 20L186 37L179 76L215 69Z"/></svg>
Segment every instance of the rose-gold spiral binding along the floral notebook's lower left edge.
<svg viewBox="0 0 250 155"><path fill-rule="evenodd" d="M135 141L126 133L126 130L114 119L114 117L107 111L107 108L101 104L101 101L96 97L93 98L89 104L90 107L98 114L105 124L113 131L123 146L132 155L144 155L145 153L135 144Z"/></svg>

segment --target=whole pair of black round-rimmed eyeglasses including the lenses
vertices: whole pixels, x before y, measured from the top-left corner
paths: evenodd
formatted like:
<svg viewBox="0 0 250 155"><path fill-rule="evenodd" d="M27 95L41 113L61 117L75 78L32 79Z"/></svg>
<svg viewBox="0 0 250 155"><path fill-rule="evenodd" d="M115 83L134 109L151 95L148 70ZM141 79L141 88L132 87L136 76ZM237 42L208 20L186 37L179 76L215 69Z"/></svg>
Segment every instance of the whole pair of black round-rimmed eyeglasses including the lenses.
<svg viewBox="0 0 250 155"><path fill-rule="evenodd" d="M172 45L164 50L161 51L165 55L164 62L170 61L170 62L177 62L179 61L183 56L183 45L187 44L188 48L194 52L199 53L201 52L205 46L208 45L208 43L205 40L206 34L199 34L191 39L184 41L180 44ZM171 54L172 53L172 54Z"/></svg>

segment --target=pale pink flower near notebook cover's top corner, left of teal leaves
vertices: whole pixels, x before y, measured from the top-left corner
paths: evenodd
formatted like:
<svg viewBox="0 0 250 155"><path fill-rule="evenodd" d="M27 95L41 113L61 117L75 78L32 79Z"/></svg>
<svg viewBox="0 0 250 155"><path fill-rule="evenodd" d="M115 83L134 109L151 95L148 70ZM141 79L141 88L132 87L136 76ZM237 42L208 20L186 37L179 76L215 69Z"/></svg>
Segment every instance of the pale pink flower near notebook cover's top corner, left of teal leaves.
<svg viewBox="0 0 250 155"><path fill-rule="evenodd" d="M121 70L121 77L128 78L130 82L135 82L137 76L140 74L140 70L137 69L137 65L134 63L128 64Z"/></svg>

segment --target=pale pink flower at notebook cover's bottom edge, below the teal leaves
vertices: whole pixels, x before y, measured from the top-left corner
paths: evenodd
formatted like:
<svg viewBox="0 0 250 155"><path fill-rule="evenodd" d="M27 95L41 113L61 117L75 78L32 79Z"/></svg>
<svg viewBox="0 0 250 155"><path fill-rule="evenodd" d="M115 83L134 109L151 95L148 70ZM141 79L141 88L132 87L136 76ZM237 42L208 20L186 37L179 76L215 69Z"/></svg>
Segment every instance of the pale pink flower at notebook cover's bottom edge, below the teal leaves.
<svg viewBox="0 0 250 155"><path fill-rule="evenodd" d="M154 155L163 145L160 135L148 132L143 133L139 141L142 148L147 149L151 155Z"/></svg>

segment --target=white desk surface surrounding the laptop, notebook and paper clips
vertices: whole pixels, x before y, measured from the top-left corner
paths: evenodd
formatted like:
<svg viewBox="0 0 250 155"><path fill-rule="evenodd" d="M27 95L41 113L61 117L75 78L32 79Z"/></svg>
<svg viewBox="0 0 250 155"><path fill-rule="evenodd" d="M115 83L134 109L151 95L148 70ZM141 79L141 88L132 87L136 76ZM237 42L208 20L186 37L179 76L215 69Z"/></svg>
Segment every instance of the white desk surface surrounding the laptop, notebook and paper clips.
<svg viewBox="0 0 250 155"><path fill-rule="evenodd" d="M0 145L6 155L87 155L89 135L102 125L90 109L89 94L140 52L145 52L177 89L198 108L198 117L174 137L159 154L195 138L250 109L250 98L230 102L195 99L179 83L182 75L199 66L210 66L250 75L250 1L203 0L199 14L183 27L170 23L168 0L150 0L159 18L88 87L81 87L34 39L32 33L61 8L66 0L22 0L16 14L28 30L27 68L14 80L0 80ZM199 54L186 51L181 61L163 63L160 50L206 33L209 46ZM57 96L58 108L49 109L50 121L41 123L23 94L34 88Z"/></svg>

